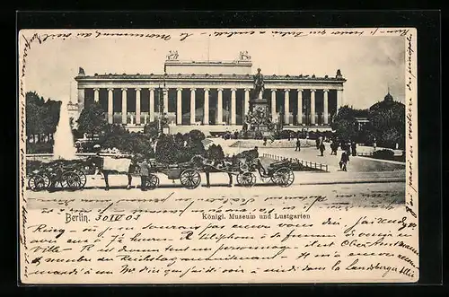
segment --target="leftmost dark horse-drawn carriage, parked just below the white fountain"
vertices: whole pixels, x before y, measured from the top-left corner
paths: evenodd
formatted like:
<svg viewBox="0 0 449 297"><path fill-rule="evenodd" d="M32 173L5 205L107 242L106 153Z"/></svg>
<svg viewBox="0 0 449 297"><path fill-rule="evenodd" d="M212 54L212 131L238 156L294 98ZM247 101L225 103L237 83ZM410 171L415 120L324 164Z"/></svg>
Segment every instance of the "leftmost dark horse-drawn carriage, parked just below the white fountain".
<svg viewBox="0 0 449 297"><path fill-rule="evenodd" d="M77 190L86 184L83 165L81 163L50 162L40 165L29 174L28 188L42 191L50 188Z"/></svg>

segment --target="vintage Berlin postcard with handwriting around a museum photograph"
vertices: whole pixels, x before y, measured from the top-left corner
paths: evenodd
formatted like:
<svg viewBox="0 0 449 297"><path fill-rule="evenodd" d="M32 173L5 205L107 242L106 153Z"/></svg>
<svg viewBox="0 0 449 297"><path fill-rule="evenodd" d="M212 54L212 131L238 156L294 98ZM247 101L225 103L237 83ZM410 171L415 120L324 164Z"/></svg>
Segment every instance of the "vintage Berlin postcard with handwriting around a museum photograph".
<svg viewBox="0 0 449 297"><path fill-rule="evenodd" d="M20 31L20 282L417 282L417 34Z"/></svg>

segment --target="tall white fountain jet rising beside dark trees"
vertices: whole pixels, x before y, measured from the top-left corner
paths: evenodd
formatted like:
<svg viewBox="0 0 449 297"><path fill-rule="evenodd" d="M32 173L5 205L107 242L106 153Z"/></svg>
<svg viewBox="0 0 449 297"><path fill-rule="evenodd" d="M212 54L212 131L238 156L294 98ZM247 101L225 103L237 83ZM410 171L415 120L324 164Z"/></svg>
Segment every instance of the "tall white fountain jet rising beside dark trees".
<svg viewBox="0 0 449 297"><path fill-rule="evenodd" d="M57 123L54 140L54 159L75 159L76 148L74 143L74 135L72 134L72 128L70 127L69 114L67 104L65 102L61 103L59 122Z"/></svg>

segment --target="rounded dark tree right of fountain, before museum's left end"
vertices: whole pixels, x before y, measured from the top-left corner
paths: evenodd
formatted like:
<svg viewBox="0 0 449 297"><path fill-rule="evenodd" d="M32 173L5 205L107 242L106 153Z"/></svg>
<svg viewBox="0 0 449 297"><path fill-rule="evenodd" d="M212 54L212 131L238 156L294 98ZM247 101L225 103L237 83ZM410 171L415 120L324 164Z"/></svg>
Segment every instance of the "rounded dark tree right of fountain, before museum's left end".
<svg viewBox="0 0 449 297"><path fill-rule="evenodd" d="M105 112L101 109L98 102L93 102L84 107L81 111L80 117L77 120L78 130L81 133L87 133L92 136L106 132L108 123L105 118Z"/></svg>

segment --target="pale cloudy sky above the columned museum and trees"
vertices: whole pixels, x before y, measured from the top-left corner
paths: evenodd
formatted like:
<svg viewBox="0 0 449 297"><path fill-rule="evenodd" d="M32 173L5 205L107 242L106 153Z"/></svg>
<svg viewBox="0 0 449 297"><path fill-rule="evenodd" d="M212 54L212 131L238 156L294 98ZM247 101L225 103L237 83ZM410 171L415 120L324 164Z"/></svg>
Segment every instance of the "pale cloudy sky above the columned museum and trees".
<svg viewBox="0 0 449 297"><path fill-rule="evenodd" d="M36 91L45 99L75 102L74 78L79 67L83 67L88 75L162 74L170 50L177 50L180 60L196 61L233 60L238 58L240 51L246 50L251 56L253 73L260 67L262 74L267 75L335 76L340 69L348 80L344 83L345 103L357 109L368 108L383 100L388 89L394 100L404 102L404 37L280 38L271 34L244 34L226 38L189 31L194 34L180 41L180 38L174 38L180 36L180 32L163 31L171 34L170 40L102 35L84 39L75 37L74 33L66 39L48 38L41 44L34 42L27 51L25 91ZM46 32L40 31L42 33ZM31 39L32 32L21 34Z"/></svg>

